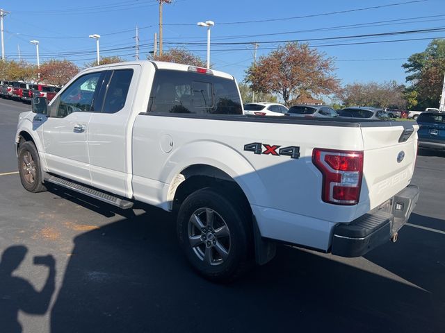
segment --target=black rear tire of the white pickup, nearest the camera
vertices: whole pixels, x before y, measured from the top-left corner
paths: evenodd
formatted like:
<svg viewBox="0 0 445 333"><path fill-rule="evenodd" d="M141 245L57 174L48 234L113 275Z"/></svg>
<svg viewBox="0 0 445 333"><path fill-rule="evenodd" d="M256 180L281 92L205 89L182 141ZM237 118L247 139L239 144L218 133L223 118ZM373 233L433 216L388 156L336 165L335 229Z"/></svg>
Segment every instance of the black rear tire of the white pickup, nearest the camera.
<svg viewBox="0 0 445 333"><path fill-rule="evenodd" d="M229 200L229 196L229 194L220 194L211 188L195 191L184 200L177 217L179 243L188 261L200 275L213 282L232 282L253 266L250 214L245 209L246 207L243 209L243 207L239 207ZM199 213L203 209L206 211ZM213 230L209 227L207 221L207 210L213 211L214 222L211 225ZM196 228L196 224L192 222L193 216L197 216L197 214L205 214L204 232ZM195 219L193 220L195 221ZM202 219L202 223L204 224L204 219ZM218 230L222 230L220 225L223 224L227 225L229 236L219 236L218 238ZM196 231L197 234L193 235L192 230ZM209 249L211 232L213 232L213 245L209 250L211 253L210 264L207 250ZM201 241L199 246L192 246L191 241L193 239L191 237L200 237L200 240L202 240L205 235L208 235L207 241ZM196 239L196 241L198 240ZM220 246L227 250L225 258L220 254Z"/></svg>

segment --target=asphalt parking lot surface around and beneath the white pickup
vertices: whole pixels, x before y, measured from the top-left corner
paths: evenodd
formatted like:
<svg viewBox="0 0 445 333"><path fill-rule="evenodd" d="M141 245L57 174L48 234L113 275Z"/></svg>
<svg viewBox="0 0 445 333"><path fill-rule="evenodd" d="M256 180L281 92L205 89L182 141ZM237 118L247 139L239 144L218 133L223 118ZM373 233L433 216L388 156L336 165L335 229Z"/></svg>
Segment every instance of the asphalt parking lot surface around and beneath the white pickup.
<svg viewBox="0 0 445 333"><path fill-rule="evenodd" d="M0 99L0 332L445 332L445 153L419 151L396 244L354 259L280 246L218 285L188 266L171 214L25 191L13 139L29 108Z"/></svg>

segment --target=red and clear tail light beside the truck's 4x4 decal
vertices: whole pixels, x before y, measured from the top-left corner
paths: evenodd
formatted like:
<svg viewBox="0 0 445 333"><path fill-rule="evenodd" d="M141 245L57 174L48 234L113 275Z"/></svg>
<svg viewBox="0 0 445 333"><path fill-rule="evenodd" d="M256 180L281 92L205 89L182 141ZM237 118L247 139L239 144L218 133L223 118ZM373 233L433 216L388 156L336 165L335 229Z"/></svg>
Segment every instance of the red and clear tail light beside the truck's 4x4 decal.
<svg viewBox="0 0 445 333"><path fill-rule="evenodd" d="M315 148L312 162L323 174L321 197L325 203L356 205L363 176L363 151Z"/></svg>

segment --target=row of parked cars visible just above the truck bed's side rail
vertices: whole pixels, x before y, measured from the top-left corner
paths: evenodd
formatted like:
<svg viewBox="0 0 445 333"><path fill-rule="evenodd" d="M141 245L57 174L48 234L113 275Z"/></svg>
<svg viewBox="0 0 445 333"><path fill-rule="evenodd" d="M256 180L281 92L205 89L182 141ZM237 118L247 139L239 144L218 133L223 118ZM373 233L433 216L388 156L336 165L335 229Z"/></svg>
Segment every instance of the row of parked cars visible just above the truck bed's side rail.
<svg viewBox="0 0 445 333"><path fill-rule="evenodd" d="M379 108L371 107L351 107L343 110L334 110L327 105L293 105L291 108L286 108L278 103L248 103L244 105L245 114L252 114L256 116L291 116L291 117L342 117L342 118L359 118L359 119L378 119L390 120L395 117L403 117L403 114L391 115Z"/></svg>

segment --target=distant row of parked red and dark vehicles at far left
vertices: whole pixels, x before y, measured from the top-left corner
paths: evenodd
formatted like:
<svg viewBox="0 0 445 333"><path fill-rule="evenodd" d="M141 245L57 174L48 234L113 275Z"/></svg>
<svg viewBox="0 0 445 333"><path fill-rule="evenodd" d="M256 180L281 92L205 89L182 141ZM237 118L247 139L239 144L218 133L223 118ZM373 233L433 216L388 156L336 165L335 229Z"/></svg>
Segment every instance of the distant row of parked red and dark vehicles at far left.
<svg viewBox="0 0 445 333"><path fill-rule="evenodd" d="M54 85L41 83L24 83L20 81L0 81L0 96L3 99L30 102L33 97L46 97L48 101L56 96L60 90Z"/></svg>

